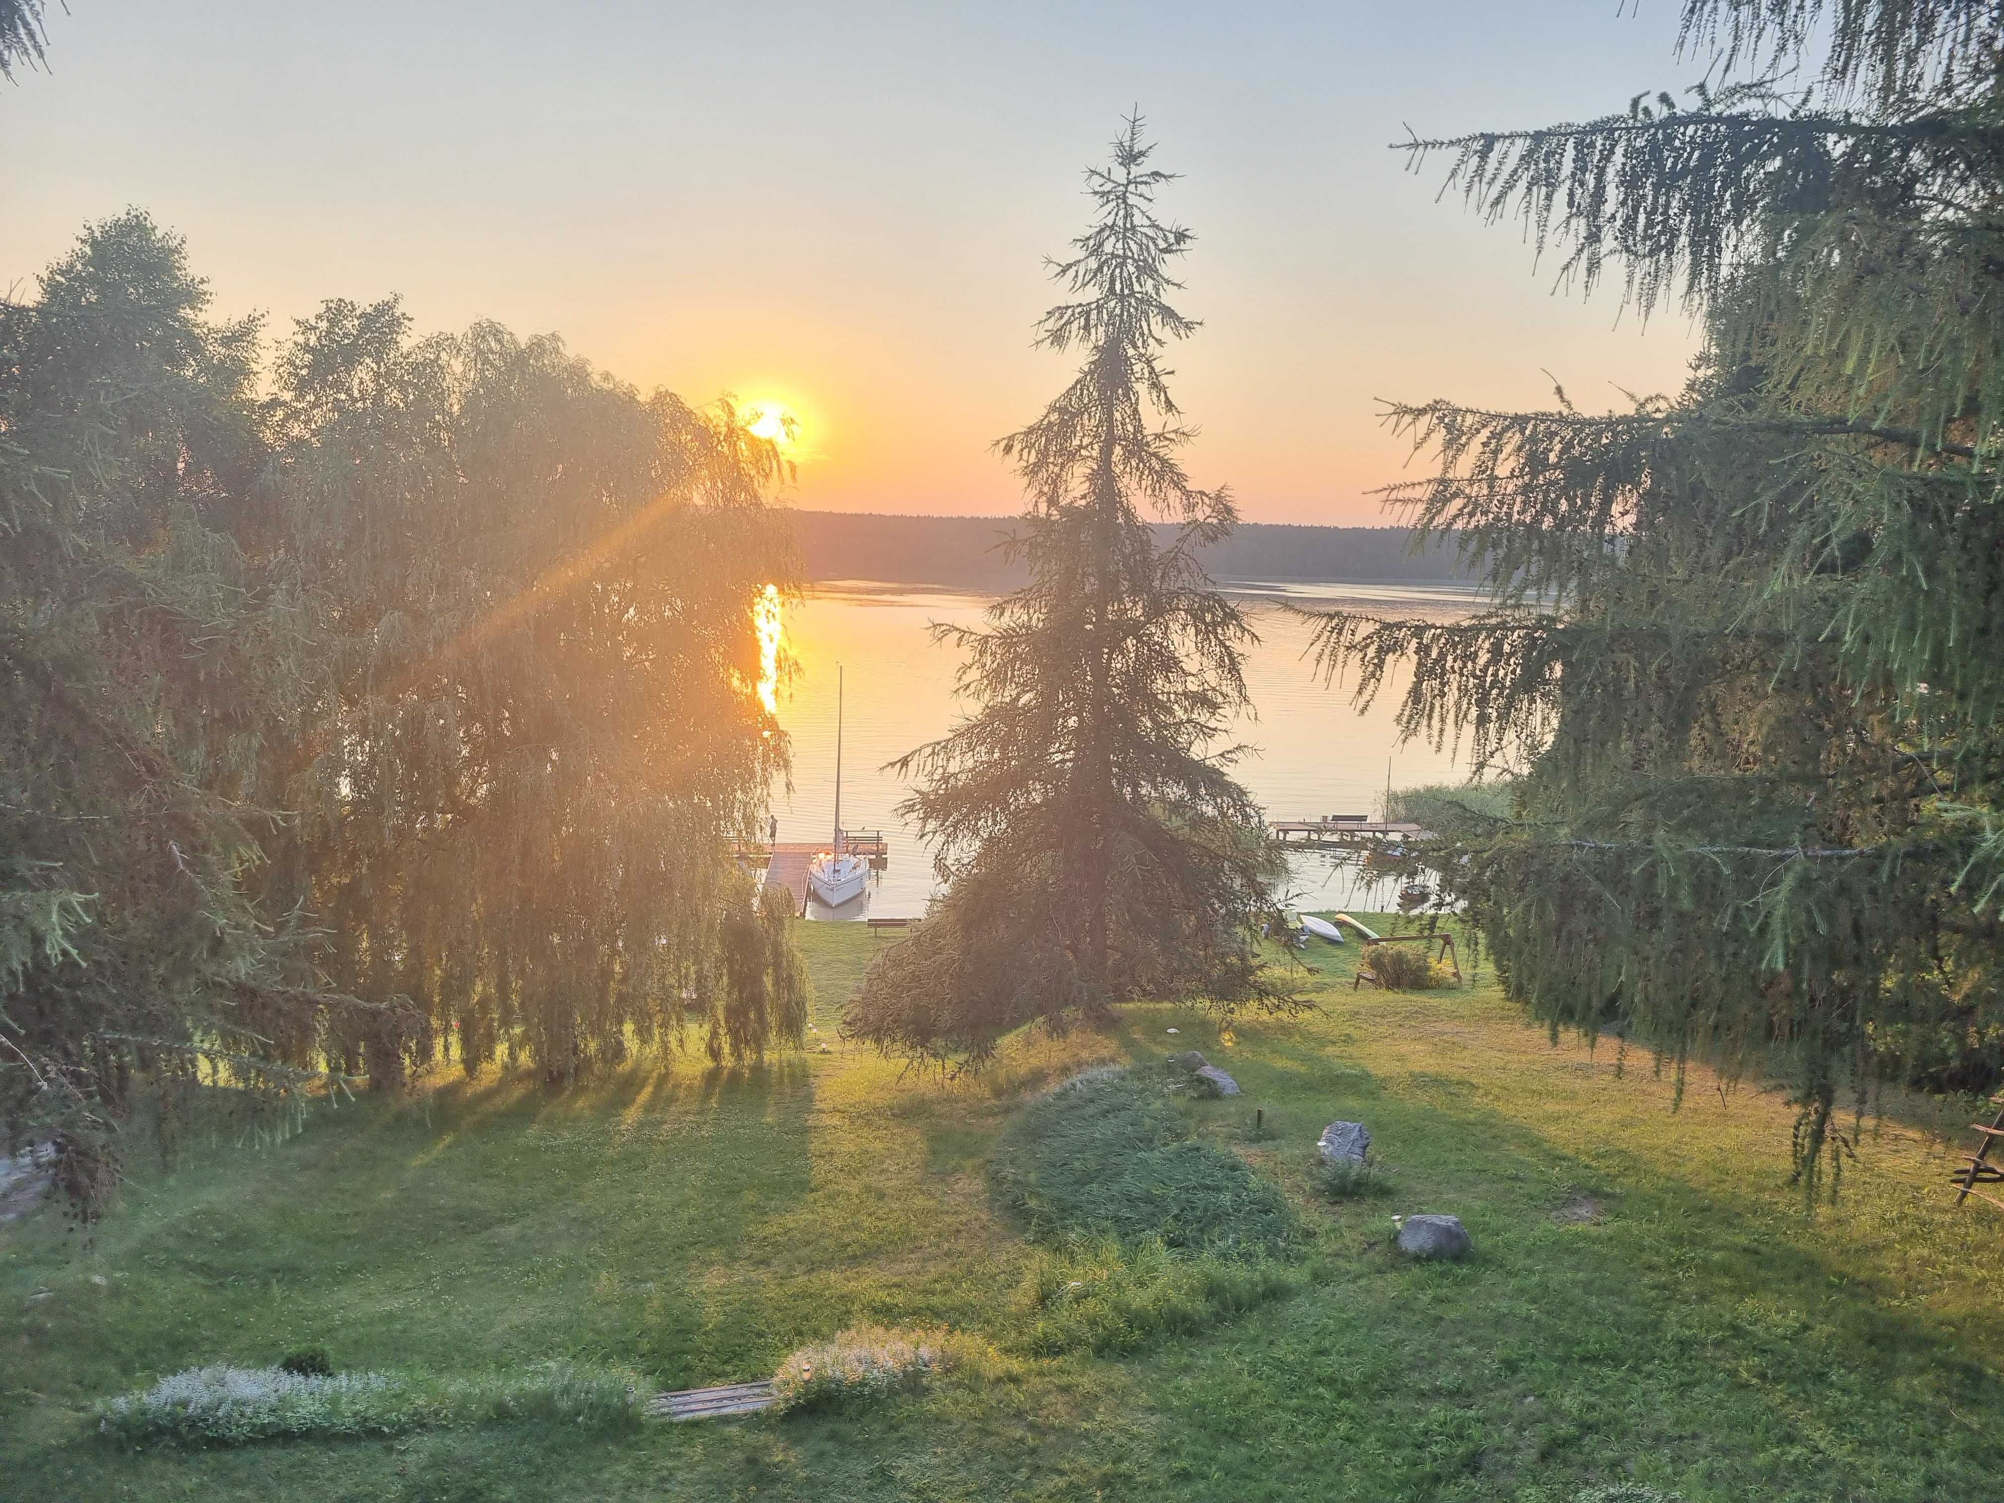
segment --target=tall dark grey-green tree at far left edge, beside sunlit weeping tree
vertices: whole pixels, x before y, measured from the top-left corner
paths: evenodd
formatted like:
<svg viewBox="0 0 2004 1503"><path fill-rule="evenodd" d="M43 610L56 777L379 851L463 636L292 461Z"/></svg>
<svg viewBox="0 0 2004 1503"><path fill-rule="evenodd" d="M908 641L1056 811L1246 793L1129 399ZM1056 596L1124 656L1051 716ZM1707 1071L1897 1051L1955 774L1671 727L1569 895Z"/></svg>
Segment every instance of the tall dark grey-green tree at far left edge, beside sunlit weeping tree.
<svg viewBox="0 0 2004 1503"><path fill-rule="evenodd" d="M170 1134L232 1086L279 1126L363 1010L250 894L303 643L230 537L257 327L206 303L140 212L0 303L0 1140L54 1146L86 1214L136 1116Z"/></svg>

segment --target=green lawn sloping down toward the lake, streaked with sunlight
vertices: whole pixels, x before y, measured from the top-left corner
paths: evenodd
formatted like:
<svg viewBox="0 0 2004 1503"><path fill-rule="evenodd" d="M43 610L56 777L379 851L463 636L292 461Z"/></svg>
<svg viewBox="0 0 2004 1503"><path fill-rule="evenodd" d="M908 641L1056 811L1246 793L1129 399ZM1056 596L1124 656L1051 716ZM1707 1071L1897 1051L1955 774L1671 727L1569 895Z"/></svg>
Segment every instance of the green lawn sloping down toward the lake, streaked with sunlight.
<svg viewBox="0 0 2004 1503"><path fill-rule="evenodd" d="M1617 1078L1611 1046L1553 1048L1481 982L1351 992L1355 948L1321 942L1307 1018L1220 1036L1134 1008L942 1084L834 1036L888 940L808 924L802 944L828 1052L565 1094L453 1080L136 1170L88 1246L52 1210L0 1228L0 1499L1565 1501L1627 1479L1689 1503L1996 1497L2004 1218L1950 1208L1948 1152L1920 1132L1868 1136L1812 1216L1780 1094L1693 1072L1671 1112L1647 1060ZM1124 1357L1024 1355L1038 1255L996 1208L990 1148L1036 1086L1172 1048L1244 1088L1186 1110L1303 1208L1299 1289ZM1391 1194L1313 1194L1333 1118L1371 1126ZM1403 1263L1391 1216L1421 1210L1459 1214L1475 1257ZM236 1451L86 1429L102 1395L315 1345L343 1367L569 1357L691 1387L854 1321L1002 1355L836 1417Z"/></svg>

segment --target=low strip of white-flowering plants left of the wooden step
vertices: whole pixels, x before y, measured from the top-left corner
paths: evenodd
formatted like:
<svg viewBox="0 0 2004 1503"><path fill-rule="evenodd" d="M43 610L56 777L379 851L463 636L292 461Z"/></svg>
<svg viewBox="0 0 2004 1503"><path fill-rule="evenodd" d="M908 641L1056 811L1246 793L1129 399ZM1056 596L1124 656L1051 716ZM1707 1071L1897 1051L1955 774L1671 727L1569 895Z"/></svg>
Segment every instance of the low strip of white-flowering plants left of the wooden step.
<svg viewBox="0 0 2004 1503"><path fill-rule="evenodd" d="M611 1425L639 1415L639 1379L545 1363L523 1375L435 1381L409 1373L291 1373L190 1367L98 1405L98 1431L122 1441L248 1441L397 1435L453 1423L555 1419Z"/></svg>

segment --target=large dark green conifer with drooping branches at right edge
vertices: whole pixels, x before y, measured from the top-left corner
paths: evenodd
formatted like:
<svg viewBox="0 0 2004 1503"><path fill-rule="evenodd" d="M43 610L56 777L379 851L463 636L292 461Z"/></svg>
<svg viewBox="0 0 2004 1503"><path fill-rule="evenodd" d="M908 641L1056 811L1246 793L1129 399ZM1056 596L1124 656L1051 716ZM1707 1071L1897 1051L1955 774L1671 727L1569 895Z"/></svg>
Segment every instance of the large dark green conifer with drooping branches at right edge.
<svg viewBox="0 0 2004 1503"><path fill-rule="evenodd" d="M1792 1060L1814 1184L1846 1092L2004 1066L2004 36L1952 0L1689 0L1681 34L1749 82L1405 150L1563 281L1701 315L1689 387L1393 409L1437 461L1393 501L1489 607L1321 645L1365 697L1411 661L1405 731L1523 774L1431 856L1509 990L1679 1078Z"/></svg>

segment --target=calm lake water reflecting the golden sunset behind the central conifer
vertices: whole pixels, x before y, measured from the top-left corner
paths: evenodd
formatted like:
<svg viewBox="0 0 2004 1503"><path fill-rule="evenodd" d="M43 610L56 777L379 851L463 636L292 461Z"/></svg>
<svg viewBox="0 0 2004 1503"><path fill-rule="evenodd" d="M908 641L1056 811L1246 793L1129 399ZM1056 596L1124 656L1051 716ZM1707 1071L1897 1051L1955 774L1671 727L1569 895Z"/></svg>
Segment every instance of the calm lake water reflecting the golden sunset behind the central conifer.
<svg viewBox="0 0 2004 1503"><path fill-rule="evenodd" d="M1451 749L1399 745L1393 711L1403 679L1367 711L1351 705L1347 687L1325 687L1305 655L1313 623L1287 607L1343 605L1451 619L1473 609L1469 591L1301 581L1224 587L1240 599L1261 635L1246 661L1255 713L1240 721L1234 739L1255 747L1238 764L1238 780L1269 820L1375 814L1387 774L1397 788L1459 776ZM884 830L890 838L890 862L868 896L840 910L810 902L810 918L912 918L926 910L938 886L932 852L898 820L896 806L908 790L884 764L944 735L964 713L954 697L958 657L932 643L928 623L976 625L990 601L990 595L922 585L840 581L816 585L808 599L784 607L786 647L798 671L778 693L780 723L794 739L792 794L780 790L774 798L780 840L828 840L834 832L838 665L848 685L842 824ZM1295 858L1295 890L1307 908L1383 906L1355 890L1347 872L1311 854Z"/></svg>

